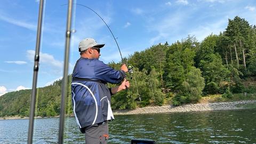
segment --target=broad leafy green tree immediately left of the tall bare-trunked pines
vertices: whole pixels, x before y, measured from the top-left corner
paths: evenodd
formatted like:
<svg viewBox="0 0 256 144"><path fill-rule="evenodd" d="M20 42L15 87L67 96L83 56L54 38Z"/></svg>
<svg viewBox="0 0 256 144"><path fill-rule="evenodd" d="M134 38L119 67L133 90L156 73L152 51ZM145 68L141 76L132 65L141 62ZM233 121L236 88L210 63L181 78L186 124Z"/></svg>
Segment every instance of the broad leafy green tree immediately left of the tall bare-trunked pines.
<svg viewBox="0 0 256 144"><path fill-rule="evenodd" d="M196 61L205 79L205 94L221 93L224 89L224 87L221 87L221 82L227 81L229 74L229 70L222 65L221 56L215 53L215 51L218 51L217 45L220 38L223 37L207 36L197 49Z"/></svg>

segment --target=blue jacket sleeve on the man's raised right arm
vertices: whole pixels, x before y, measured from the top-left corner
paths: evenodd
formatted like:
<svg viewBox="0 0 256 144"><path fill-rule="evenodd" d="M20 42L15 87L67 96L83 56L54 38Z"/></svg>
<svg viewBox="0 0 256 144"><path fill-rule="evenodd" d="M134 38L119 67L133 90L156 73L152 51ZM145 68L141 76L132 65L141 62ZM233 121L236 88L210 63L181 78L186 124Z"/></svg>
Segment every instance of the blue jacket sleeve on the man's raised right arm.
<svg viewBox="0 0 256 144"><path fill-rule="evenodd" d="M123 70L115 70L100 60L95 61L94 74L96 78L112 84L118 84L125 78Z"/></svg>

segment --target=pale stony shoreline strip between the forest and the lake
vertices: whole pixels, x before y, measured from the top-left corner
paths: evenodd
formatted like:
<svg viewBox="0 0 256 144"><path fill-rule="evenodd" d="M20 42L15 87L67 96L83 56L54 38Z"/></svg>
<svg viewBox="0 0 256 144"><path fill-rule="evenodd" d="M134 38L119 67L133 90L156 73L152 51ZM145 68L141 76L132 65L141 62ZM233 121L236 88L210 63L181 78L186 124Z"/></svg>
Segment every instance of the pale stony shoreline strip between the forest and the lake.
<svg viewBox="0 0 256 144"><path fill-rule="evenodd" d="M234 109L249 109L243 107L246 104L256 103L256 100L243 100L233 102L213 102L213 103L195 103L186 104L181 106L149 106L143 108L137 108L133 110L113 110L114 115L134 115L134 114L156 114L156 113L180 113L188 111L215 111L215 110L234 110ZM59 117L59 116L54 116ZM35 118L48 118L37 116ZM4 119L29 119L29 117L12 116L12 117L0 117L0 120Z"/></svg>

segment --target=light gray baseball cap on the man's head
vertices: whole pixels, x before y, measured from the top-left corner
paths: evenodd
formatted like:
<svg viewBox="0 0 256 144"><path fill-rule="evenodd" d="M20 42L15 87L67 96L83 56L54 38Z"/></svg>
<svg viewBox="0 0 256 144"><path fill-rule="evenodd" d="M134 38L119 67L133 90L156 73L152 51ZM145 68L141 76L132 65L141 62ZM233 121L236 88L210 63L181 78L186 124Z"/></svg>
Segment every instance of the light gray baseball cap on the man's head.
<svg viewBox="0 0 256 144"><path fill-rule="evenodd" d="M90 47L98 47L101 48L105 44L98 44L93 38L85 38L83 39L78 46L79 52L89 49Z"/></svg>

